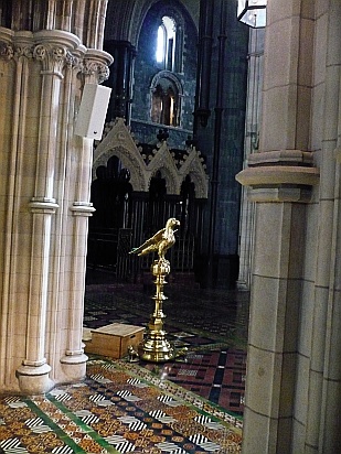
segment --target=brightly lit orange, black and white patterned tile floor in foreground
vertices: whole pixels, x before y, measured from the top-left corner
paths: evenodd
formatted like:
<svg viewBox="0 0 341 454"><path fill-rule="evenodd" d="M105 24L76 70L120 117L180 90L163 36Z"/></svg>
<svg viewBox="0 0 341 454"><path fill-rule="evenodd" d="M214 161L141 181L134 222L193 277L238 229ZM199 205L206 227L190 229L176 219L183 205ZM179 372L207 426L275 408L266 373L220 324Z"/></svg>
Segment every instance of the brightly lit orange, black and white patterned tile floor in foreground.
<svg viewBox="0 0 341 454"><path fill-rule="evenodd" d="M0 398L0 450L21 453L238 453L242 421L125 361L46 396Z"/></svg>

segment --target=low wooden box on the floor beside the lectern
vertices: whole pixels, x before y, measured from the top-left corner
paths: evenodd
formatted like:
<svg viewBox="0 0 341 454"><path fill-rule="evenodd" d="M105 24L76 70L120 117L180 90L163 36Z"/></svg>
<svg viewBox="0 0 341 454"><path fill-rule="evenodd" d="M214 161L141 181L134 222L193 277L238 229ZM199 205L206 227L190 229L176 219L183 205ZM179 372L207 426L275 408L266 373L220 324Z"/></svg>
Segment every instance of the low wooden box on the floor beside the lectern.
<svg viewBox="0 0 341 454"><path fill-rule="evenodd" d="M85 353L93 353L119 359L128 355L128 346L136 350L143 339L145 327L111 323L92 329L92 339L85 342Z"/></svg>

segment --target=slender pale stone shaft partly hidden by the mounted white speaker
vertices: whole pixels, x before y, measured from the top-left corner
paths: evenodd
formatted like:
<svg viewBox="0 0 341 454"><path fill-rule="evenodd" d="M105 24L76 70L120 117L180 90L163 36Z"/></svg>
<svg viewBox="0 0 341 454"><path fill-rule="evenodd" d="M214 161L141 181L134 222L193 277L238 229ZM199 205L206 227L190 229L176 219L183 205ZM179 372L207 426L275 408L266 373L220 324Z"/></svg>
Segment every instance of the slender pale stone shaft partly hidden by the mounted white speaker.
<svg viewBox="0 0 341 454"><path fill-rule="evenodd" d="M87 50L84 57L82 78L84 83L98 84L108 75L108 65L113 57L104 51ZM72 96L73 97L73 96ZM71 379L79 379L85 375L87 356L83 352L83 314L86 273L86 247L88 234L88 217L94 213L90 199L90 182L93 166L93 139L74 137L75 141L83 143L78 147L79 153L68 163L67 174L75 179L75 199L70 207L70 273L67 288L68 300L66 309L66 349L61 358L64 374Z"/></svg>

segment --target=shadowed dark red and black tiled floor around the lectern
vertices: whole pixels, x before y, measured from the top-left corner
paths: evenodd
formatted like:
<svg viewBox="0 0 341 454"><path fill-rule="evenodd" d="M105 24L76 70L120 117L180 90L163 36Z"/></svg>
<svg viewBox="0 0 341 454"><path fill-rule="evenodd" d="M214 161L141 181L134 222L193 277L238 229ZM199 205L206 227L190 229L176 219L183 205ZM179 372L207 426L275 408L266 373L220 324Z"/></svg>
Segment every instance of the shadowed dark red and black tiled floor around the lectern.
<svg viewBox="0 0 341 454"><path fill-rule="evenodd" d="M84 324L89 328L115 322L147 326L153 310L152 293L152 288L146 291L141 284L88 285ZM242 414L248 294L177 283L167 285L164 293L169 340L179 348L187 347L189 353L174 363L140 366Z"/></svg>

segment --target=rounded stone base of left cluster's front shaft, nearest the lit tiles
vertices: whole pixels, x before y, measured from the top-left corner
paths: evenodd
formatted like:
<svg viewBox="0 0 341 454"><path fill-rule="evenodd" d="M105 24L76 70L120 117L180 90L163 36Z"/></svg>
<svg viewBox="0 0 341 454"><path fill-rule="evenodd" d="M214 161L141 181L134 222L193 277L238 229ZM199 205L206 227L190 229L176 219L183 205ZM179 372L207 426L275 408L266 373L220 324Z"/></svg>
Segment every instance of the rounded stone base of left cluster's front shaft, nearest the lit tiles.
<svg viewBox="0 0 341 454"><path fill-rule="evenodd" d="M47 364L41 366L20 366L17 371L20 390L25 394L43 394L54 387L49 374L51 367Z"/></svg>

